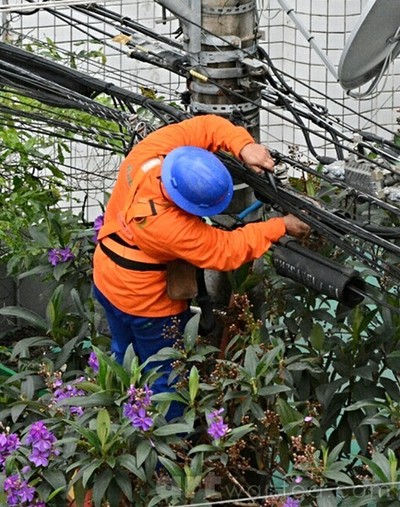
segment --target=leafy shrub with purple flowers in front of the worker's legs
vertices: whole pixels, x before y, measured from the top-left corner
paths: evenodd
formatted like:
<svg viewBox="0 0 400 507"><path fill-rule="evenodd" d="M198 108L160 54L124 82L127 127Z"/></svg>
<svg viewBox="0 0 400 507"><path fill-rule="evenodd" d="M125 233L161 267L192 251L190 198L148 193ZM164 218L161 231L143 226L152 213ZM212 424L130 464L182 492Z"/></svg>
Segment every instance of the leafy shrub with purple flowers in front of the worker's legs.
<svg viewBox="0 0 400 507"><path fill-rule="evenodd" d="M198 335L195 315L176 347L151 358L173 362L173 392L152 392L157 368L140 365L131 348L122 365L93 346L85 349L83 370L33 354L18 373L0 375L0 503L83 507L91 491L94 507L208 506L254 497L263 507L298 507L322 505L317 487L328 489L321 502L344 507L354 500L351 489L332 492L332 484L394 484L392 451L387 458L375 452L376 462L355 456L373 474L351 468L343 442L327 444L330 414L297 398L298 376L307 379L307 368L322 375L314 349L304 359L279 329L266 338L245 296L234 303L237 311L222 316L230 333L223 353ZM167 421L173 402L184 412ZM382 502L396 491L386 491ZM371 498L384 505L378 493Z"/></svg>

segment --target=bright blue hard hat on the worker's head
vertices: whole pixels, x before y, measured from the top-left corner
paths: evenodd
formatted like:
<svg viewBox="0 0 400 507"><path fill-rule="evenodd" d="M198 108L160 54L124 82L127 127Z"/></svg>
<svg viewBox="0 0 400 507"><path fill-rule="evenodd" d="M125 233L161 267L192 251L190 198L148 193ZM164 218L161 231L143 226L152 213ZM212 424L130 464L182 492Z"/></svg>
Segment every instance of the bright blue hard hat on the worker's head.
<svg viewBox="0 0 400 507"><path fill-rule="evenodd" d="M174 203L192 215L217 215L233 196L228 169L216 155L195 146L181 146L168 153L161 180Z"/></svg>

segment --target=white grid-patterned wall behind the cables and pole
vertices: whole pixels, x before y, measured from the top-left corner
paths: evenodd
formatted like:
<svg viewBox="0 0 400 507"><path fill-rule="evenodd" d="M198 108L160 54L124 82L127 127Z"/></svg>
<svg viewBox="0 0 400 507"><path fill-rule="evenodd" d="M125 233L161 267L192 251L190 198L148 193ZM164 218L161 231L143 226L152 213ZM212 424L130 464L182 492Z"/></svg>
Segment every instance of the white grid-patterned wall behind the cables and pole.
<svg viewBox="0 0 400 507"><path fill-rule="evenodd" d="M20 5L17 0L2 2L3 6L9 5L10 8ZM21 5L24 4L26 5ZM175 37L177 20L168 16L168 13L165 17L165 12L154 1L120 0L102 4L159 34ZM367 0L290 0L290 4L333 66L337 67L346 39ZM363 128L365 118L371 118L377 125L396 130L400 108L398 60L392 64L390 73L382 83L382 90L375 98L363 101L350 98L284 12L278 0L258 0L257 7L259 29L264 34L260 45L268 52L276 67L285 73L288 83L298 94L311 102L327 106L329 111L338 117L344 129L347 124ZM60 7L57 12L63 14L70 12L70 9ZM150 88L166 101L179 102L179 94L186 86L184 79L166 69L155 68L129 58L123 46L117 47L111 38L102 35L109 27L105 27L100 21L93 21L81 13L74 13L73 16L75 21L71 25L55 18L45 9L35 9L34 6L28 11L21 9L20 13L3 12L2 36L13 41L43 44L39 52L44 55L48 50L48 43L54 43L59 56L65 61L68 61L73 53L88 55L90 51L101 49L105 63L101 63L100 58L82 58L77 60L78 68L126 89L138 92L143 88ZM91 33L98 26L97 41L88 36L88 25ZM343 109L338 103L345 104L349 110ZM298 147L302 156L307 158L307 147L301 131L290 122L262 111L260 125L262 142L285 153L293 146ZM375 126L375 129L379 130L379 127ZM329 152L330 146L324 140L315 137L313 142L319 149ZM105 200L112 186L119 162L120 157L117 155L103 153L87 146L74 146L69 160L66 161L66 167L71 167L69 183L75 191L71 200L65 204L80 209L82 202L89 202L88 216L96 216L99 203ZM78 178L76 169L80 170Z"/></svg>

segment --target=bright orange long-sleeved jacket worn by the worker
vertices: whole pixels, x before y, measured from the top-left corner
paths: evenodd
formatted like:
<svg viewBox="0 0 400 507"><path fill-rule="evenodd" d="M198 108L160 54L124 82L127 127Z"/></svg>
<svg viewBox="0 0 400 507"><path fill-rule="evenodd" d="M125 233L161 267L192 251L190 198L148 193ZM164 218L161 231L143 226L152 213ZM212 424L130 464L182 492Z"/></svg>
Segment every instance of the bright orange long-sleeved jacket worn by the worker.
<svg viewBox="0 0 400 507"><path fill-rule="evenodd" d="M212 227L167 200L160 185L161 160L154 160L179 146L221 149L239 157L242 148L252 142L244 128L214 115L197 116L148 135L121 164L100 236L117 228L124 241L140 248L134 252L138 255L135 259L151 263L180 258L201 268L230 271L260 257L285 234L282 218L247 224L234 231ZM138 174L146 163L149 170L140 179ZM132 182L137 185L134 195L130 192ZM156 203L155 215L149 211L149 199ZM104 240L108 246L112 243L109 238ZM118 248L127 256L132 252ZM94 255L94 282L114 306L132 315L164 317L187 307L186 300L167 296L165 271L125 269L99 246Z"/></svg>

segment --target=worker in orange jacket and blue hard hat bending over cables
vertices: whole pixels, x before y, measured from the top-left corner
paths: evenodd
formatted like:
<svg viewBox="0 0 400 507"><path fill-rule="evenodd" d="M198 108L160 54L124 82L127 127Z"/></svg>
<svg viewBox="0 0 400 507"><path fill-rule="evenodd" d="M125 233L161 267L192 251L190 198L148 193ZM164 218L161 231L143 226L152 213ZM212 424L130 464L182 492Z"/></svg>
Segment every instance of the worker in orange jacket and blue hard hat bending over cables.
<svg viewBox="0 0 400 507"><path fill-rule="evenodd" d="M191 317L192 268L231 271L261 257L285 234L309 227L293 215L226 231L203 217L229 205L232 178L214 154L230 152L256 172L272 171L266 147L245 128L215 115L167 125L123 160L98 234L94 294L105 309L111 351L122 363L132 344L141 363L171 347ZM173 390L169 361L150 362L161 376L153 392ZM171 408L169 420L179 415Z"/></svg>

